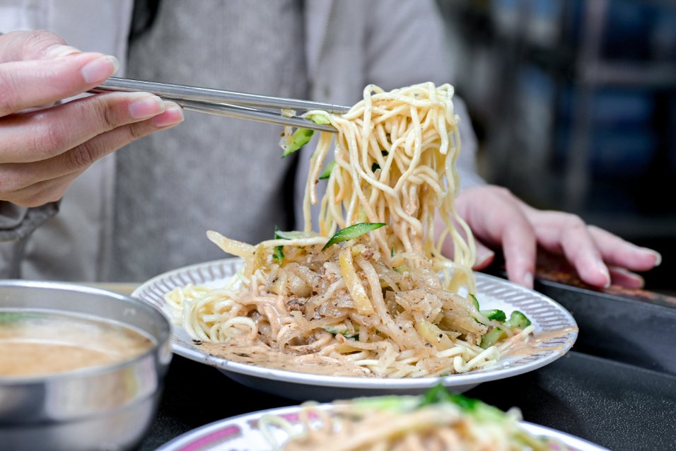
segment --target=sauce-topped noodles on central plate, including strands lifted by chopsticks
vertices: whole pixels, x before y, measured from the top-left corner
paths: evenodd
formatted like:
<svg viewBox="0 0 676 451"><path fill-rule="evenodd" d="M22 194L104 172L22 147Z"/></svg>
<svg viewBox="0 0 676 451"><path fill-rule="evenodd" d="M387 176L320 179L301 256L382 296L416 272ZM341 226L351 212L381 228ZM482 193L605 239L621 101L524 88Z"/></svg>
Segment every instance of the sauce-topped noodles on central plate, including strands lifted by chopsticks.
<svg viewBox="0 0 676 451"><path fill-rule="evenodd" d="M421 377L494 365L532 327L506 327L472 299L474 241L453 207L460 135L452 98L450 85L367 86L344 115L306 113L338 134L334 141L322 132L310 157L303 231L278 231L258 245L208 232L243 269L224 288L168 293L175 321L194 340L238 344L247 357L274 352L294 364L333 365L338 375ZM299 131L286 129L283 142L296 146ZM325 164L333 141L334 163ZM310 206L327 175L316 233ZM441 254L449 237L453 259ZM497 327L501 339L481 346Z"/></svg>

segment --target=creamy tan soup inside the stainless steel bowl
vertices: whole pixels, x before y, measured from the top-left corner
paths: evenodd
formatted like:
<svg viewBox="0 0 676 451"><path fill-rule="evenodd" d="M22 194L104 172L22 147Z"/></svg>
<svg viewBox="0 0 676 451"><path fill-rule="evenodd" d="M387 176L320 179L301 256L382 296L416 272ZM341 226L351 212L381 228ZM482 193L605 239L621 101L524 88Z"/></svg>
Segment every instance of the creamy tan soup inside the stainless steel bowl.
<svg viewBox="0 0 676 451"><path fill-rule="evenodd" d="M110 365L153 346L120 324L61 312L0 312L0 377L28 377Z"/></svg>

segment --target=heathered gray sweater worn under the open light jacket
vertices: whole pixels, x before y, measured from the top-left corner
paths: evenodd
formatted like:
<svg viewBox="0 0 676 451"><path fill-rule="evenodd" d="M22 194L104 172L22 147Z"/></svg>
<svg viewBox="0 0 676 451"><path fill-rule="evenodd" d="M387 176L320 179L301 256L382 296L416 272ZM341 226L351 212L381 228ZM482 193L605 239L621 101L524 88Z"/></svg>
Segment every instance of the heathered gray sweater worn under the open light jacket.
<svg viewBox="0 0 676 451"><path fill-rule="evenodd" d="M163 0L153 28L129 47L127 76L307 98L299 42L298 0ZM144 280L222 258L206 230L246 242L272 238L274 225L288 230L293 210L285 199L293 191L284 186L298 157L280 158L280 132L260 122L185 112L181 127L120 150L104 279Z"/></svg>

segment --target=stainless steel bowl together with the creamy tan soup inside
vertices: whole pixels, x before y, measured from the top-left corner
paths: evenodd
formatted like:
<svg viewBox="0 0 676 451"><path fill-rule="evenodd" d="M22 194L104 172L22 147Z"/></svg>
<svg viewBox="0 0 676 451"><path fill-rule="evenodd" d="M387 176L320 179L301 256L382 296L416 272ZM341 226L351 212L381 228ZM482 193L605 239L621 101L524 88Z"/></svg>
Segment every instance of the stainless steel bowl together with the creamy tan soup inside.
<svg viewBox="0 0 676 451"><path fill-rule="evenodd" d="M70 283L0 281L0 443L125 450L153 420L170 326L139 300Z"/></svg>

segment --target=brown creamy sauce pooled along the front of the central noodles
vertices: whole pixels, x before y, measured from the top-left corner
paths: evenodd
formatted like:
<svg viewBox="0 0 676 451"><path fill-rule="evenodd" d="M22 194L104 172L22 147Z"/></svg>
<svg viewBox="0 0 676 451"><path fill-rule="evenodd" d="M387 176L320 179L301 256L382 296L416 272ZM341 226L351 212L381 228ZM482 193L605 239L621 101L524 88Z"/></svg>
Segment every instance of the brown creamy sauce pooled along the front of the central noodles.
<svg viewBox="0 0 676 451"><path fill-rule="evenodd" d="M358 365L325 361L315 354L299 356L280 353L264 345L251 344L247 339L233 339L228 343L203 342L197 346L213 356L275 370L325 376L373 377L372 373L366 373L366 370Z"/></svg>

